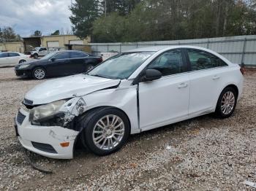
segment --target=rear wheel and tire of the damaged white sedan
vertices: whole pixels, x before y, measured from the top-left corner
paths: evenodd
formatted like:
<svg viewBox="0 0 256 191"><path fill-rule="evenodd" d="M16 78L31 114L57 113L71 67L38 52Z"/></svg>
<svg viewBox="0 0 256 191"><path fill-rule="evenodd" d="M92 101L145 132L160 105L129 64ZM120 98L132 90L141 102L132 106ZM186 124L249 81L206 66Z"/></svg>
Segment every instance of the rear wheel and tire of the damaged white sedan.
<svg viewBox="0 0 256 191"><path fill-rule="evenodd" d="M226 87L219 95L215 114L220 118L230 117L236 109L237 93L233 87Z"/></svg>

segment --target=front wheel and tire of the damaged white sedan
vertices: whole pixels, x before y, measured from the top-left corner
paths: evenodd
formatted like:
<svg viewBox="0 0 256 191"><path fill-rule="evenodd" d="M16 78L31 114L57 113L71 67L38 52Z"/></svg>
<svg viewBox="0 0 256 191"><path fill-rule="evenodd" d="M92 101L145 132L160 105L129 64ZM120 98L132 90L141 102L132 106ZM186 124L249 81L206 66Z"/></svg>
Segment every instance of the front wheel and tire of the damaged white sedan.
<svg viewBox="0 0 256 191"><path fill-rule="evenodd" d="M129 120L118 109L95 109L81 122L84 127L81 132L82 144L95 155L110 155L118 151L129 137Z"/></svg>

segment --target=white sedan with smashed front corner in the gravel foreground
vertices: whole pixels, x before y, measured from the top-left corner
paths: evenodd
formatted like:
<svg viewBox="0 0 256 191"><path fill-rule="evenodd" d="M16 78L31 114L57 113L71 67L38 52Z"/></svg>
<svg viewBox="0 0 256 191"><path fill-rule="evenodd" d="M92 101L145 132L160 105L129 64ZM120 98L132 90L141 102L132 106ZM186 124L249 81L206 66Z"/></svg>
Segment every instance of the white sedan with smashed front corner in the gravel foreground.
<svg viewBox="0 0 256 191"><path fill-rule="evenodd" d="M78 140L108 155L130 134L212 112L230 117L243 81L238 64L201 47L130 50L86 74L34 87L15 130L23 147L46 157L72 158Z"/></svg>

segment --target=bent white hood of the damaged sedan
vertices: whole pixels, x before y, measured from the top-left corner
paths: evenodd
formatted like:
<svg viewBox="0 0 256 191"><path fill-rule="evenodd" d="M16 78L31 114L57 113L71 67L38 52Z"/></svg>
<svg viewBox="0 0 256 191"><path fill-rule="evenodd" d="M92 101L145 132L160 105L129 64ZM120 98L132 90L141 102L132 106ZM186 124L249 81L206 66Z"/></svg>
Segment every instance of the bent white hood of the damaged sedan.
<svg viewBox="0 0 256 191"><path fill-rule="evenodd" d="M106 79L85 74L50 79L35 86L26 93L25 98L34 105L48 104L65 98L86 95L97 90L118 85L120 79Z"/></svg>

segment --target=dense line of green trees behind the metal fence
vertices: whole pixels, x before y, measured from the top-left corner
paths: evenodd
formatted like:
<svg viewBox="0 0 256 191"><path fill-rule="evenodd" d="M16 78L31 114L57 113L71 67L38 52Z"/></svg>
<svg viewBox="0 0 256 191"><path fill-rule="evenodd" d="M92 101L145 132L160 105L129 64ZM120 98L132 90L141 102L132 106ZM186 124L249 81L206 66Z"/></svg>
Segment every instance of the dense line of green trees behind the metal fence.
<svg viewBox="0 0 256 191"><path fill-rule="evenodd" d="M93 42L256 34L255 0L75 0L72 30Z"/></svg>

